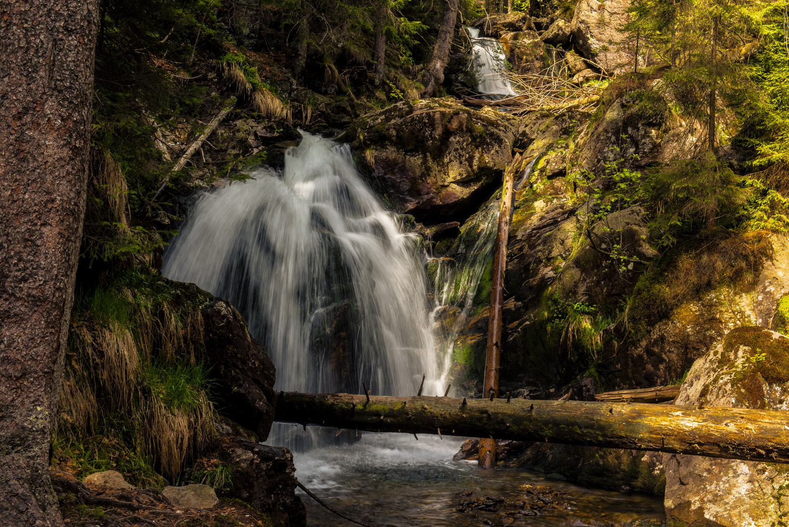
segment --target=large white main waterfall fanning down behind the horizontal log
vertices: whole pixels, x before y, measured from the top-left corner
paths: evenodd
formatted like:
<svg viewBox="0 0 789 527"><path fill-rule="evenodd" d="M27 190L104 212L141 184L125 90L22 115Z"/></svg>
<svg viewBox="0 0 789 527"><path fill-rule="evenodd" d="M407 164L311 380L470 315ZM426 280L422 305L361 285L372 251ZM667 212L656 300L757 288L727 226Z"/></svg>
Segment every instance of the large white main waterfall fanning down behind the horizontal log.
<svg viewBox="0 0 789 527"><path fill-rule="evenodd" d="M165 255L244 314L276 390L440 392L424 261L353 166L348 145L302 132L284 171L200 196Z"/></svg>

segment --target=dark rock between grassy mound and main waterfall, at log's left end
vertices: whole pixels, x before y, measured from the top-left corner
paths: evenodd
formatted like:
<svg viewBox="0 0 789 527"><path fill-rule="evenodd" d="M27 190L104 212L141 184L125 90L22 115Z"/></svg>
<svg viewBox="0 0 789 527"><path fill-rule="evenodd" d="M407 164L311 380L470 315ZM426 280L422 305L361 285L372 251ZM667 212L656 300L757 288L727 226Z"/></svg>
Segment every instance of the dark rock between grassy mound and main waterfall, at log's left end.
<svg viewBox="0 0 789 527"><path fill-rule="evenodd" d="M274 363L266 348L249 334L236 308L208 296L201 310L204 359L211 365L211 375L219 379L213 389L215 401L223 413L265 440L274 421Z"/></svg>

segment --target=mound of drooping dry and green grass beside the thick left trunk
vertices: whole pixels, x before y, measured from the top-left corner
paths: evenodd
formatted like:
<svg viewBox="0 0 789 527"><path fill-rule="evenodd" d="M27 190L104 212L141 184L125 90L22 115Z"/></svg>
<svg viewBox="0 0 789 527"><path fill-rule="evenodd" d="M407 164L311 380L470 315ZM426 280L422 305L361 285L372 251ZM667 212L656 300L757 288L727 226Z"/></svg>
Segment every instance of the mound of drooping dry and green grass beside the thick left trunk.
<svg viewBox="0 0 789 527"><path fill-rule="evenodd" d="M139 269L77 291L58 459L80 473L115 468L150 480L157 469L173 479L204 448L214 431L199 360L203 302Z"/></svg>

